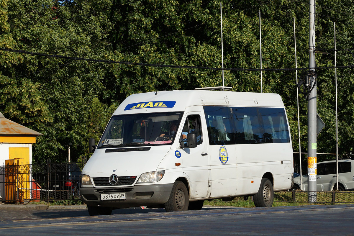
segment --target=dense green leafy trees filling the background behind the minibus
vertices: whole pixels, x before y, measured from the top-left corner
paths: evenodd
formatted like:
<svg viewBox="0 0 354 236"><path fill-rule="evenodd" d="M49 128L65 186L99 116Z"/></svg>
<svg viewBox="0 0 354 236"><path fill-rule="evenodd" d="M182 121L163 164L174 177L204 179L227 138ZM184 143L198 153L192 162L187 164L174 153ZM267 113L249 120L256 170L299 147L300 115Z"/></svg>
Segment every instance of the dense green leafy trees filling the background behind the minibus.
<svg viewBox="0 0 354 236"><path fill-rule="evenodd" d="M309 4L295 0L224 0L224 68L308 67ZM337 65L354 64L352 0L316 2L316 66L333 67L336 23ZM220 1L202 0L2 0L0 48L70 58L0 51L0 111L43 133L34 160L89 158L88 139L98 141L114 109L133 93L221 86ZM75 58L195 68L154 67ZM203 67L203 68L198 68ZM299 71L299 77L306 71ZM335 153L335 72L318 69L318 113L326 123L318 152ZM263 71L263 92L279 93L286 105L293 149L297 142L295 71ZM354 145L354 73L339 68L339 151ZM261 92L259 71L225 70L233 91ZM300 96L302 151L307 149L307 101ZM319 156L325 160L329 156Z"/></svg>

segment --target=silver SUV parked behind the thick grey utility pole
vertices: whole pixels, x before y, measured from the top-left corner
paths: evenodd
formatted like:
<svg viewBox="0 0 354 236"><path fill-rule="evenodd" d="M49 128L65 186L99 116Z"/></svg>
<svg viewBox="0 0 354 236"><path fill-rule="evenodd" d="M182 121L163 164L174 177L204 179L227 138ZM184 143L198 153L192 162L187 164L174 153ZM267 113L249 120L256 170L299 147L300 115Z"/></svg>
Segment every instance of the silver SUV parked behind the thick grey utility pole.
<svg viewBox="0 0 354 236"><path fill-rule="evenodd" d="M338 189L354 190L354 160L338 160ZM332 191L337 189L336 161L317 163L317 191ZM302 176L302 190L307 191L307 175ZM292 189L300 189L300 176L294 178Z"/></svg>

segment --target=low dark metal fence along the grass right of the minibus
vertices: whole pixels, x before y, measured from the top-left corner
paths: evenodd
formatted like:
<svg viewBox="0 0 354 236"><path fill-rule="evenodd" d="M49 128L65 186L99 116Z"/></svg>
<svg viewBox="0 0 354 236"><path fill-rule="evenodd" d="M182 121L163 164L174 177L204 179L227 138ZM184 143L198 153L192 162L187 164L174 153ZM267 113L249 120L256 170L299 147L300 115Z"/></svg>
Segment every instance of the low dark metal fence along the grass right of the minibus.
<svg viewBox="0 0 354 236"><path fill-rule="evenodd" d="M275 192L274 201L307 203L308 192L296 190ZM315 203L354 203L354 191L317 191Z"/></svg>

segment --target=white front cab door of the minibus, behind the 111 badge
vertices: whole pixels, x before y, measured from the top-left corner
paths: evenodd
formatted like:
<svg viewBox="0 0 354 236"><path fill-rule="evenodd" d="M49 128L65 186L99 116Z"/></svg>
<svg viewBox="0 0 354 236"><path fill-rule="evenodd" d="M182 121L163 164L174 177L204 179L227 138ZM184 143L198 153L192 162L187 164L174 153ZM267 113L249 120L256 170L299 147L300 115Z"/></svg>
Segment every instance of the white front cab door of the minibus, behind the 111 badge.
<svg viewBox="0 0 354 236"><path fill-rule="evenodd" d="M206 197L209 190L209 155L207 150L207 136L205 121L201 120L201 112L190 112L183 121L181 136L195 133L197 146L195 148L182 148L183 172L191 182L192 199ZM186 141L181 137L182 142Z"/></svg>

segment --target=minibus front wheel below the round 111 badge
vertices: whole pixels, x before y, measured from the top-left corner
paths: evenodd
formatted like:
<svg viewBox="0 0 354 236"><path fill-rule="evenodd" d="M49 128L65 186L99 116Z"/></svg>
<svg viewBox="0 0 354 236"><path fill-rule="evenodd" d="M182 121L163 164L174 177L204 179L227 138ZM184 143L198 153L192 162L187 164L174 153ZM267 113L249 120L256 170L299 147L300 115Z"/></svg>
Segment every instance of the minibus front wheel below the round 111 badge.
<svg viewBox="0 0 354 236"><path fill-rule="evenodd" d="M187 187L181 181L176 181L170 194L169 200L165 203L166 212L187 211L189 197Z"/></svg>

